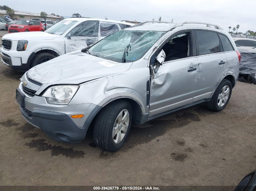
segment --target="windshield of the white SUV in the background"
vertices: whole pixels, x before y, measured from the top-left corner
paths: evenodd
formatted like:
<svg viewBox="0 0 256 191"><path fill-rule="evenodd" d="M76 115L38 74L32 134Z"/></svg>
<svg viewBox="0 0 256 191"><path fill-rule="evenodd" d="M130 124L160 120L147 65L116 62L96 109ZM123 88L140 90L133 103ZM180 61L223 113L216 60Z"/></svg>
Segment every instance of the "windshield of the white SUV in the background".
<svg viewBox="0 0 256 191"><path fill-rule="evenodd" d="M45 33L62 35L77 22L78 21L62 20L62 21L56 23L55 25L52 25L52 27L48 28L47 30L45 30Z"/></svg>

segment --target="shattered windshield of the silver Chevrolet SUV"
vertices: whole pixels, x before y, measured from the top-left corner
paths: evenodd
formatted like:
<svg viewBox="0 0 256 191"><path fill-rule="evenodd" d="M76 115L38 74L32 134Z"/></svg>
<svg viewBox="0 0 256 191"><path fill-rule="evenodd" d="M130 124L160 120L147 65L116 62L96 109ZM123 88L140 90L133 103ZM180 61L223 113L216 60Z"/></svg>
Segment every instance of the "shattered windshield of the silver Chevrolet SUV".
<svg viewBox="0 0 256 191"><path fill-rule="evenodd" d="M140 59L166 32L120 30L91 46L91 55L114 62L134 62Z"/></svg>

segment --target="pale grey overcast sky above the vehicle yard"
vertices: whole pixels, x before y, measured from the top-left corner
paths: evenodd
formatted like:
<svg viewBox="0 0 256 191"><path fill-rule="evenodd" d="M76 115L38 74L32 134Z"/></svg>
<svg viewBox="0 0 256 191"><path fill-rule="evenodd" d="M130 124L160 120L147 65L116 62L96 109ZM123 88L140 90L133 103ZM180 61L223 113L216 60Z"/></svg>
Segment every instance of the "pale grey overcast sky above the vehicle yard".
<svg viewBox="0 0 256 191"><path fill-rule="evenodd" d="M1 0L15 11L40 13L41 11L61 16L79 13L83 17L111 20L158 20L175 23L199 21L218 24L225 31L240 25L238 32L256 31L255 0Z"/></svg>

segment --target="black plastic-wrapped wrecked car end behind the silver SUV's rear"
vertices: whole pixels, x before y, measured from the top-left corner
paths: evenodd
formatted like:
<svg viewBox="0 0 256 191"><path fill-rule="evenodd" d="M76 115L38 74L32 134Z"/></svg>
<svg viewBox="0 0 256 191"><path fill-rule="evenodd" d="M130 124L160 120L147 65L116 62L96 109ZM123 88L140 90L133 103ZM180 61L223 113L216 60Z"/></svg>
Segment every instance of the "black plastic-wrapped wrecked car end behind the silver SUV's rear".
<svg viewBox="0 0 256 191"><path fill-rule="evenodd" d="M237 47L241 54L239 81L256 84L256 47Z"/></svg>

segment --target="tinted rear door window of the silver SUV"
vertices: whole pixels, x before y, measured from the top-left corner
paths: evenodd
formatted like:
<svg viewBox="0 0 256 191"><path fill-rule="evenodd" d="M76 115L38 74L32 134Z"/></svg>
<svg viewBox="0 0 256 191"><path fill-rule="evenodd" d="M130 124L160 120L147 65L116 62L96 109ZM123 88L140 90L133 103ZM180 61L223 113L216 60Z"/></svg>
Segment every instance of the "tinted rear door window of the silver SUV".
<svg viewBox="0 0 256 191"><path fill-rule="evenodd" d="M199 55L221 52L220 40L217 33L197 30L196 34L198 39Z"/></svg>

